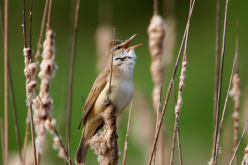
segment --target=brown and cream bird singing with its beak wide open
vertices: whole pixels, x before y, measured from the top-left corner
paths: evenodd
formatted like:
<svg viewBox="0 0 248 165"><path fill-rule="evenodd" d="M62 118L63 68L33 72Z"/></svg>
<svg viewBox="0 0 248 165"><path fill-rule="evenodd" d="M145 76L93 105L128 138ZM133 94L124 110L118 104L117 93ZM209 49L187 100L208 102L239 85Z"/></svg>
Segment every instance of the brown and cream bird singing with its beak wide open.
<svg viewBox="0 0 248 165"><path fill-rule="evenodd" d="M130 104L133 98L133 69L136 59L134 49L142 45L128 47L135 36L136 34L127 40L111 41L107 46L105 69L96 78L83 108L81 122L84 121L84 124L75 156L77 165L85 163L89 148L87 141L104 126L101 113L105 110L106 101L111 101L116 108L118 116ZM111 68L112 78L110 78ZM111 84L110 93L109 84Z"/></svg>

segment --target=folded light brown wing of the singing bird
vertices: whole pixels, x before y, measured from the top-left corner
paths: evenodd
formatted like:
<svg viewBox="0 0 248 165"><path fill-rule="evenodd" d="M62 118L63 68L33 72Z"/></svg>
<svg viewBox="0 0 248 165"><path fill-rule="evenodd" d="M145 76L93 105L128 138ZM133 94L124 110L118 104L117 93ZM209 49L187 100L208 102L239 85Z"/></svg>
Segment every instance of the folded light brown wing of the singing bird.
<svg viewBox="0 0 248 165"><path fill-rule="evenodd" d="M105 69L96 78L96 80L95 80L95 82L94 82L94 84L90 90L90 93L86 99L86 102L84 105L84 110L83 110L82 120L84 120L84 118L86 117L86 115L90 111L91 107L96 102L96 99L98 98L98 96L100 95L102 90L105 88L105 86L107 84L108 75L109 75L109 71Z"/></svg>

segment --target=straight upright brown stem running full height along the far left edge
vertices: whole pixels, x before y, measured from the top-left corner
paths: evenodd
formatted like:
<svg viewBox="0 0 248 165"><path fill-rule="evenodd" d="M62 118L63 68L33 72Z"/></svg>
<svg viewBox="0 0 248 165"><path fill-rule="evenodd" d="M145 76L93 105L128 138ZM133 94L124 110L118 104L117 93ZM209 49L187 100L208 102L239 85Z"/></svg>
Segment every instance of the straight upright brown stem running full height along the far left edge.
<svg viewBox="0 0 248 165"><path fill-rule="evenodd" d="M4 4L4 164L8 165L9 112L8 112L8 0Z"/></svg>

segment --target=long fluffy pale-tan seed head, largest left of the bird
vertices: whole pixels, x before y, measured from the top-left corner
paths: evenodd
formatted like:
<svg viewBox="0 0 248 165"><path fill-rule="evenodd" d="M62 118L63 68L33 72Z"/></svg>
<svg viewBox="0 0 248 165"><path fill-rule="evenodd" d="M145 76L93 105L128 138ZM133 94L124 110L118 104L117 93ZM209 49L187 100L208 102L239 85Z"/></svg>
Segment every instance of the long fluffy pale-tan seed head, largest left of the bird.
<svg viewBox="0 0 248 165"><path fill-rule="evenodd" d="M42 151L43 142L45 140L46 132L54 133L56 120L50 118L50 114L53 109L53 100L49 94L51 86L51 79L55 75L57 66L53 61L55 58L55 46L54 46L54 33L51 29L46 32L46 40L43 44L43 61L40 64L41 71L39 77L41 78L40 93L34 99L34 123L37 132L36 143L38 145L38 151ZM41 101L40 101L41 99ZM54 148L59 149L59 156L68 160L66 151L61 143L61 138L55 134Z"/></svg>

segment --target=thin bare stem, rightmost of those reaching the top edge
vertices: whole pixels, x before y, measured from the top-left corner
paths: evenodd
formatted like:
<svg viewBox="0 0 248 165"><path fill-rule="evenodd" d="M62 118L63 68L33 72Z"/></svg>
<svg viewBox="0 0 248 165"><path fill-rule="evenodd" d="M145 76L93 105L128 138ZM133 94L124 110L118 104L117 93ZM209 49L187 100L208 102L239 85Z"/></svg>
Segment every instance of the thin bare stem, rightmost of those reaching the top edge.
<svg viewBox="0 0 248 165"><path fill-rule="evenodd" d="M214 139L214 161L213 163L217 165L217 158L218 154L216 154L218 151L216 151L216 143L217 143L217 135L218 135L218 125L219 125L219 111L220 111L220 99L221 99L221 87L222 87L222 75L223 75L223 67L224 67L224 54L225 54L225 43L226 43L226 25L227 25L227 9L228 9L228 2L229 0L226 0L226 7L225 7L225 19L224 19L224 30L223 30L223 43L222 43L222 51L221 51L221 64L220 64L220 76L219 76L219 83L218 83L218 102L217 102L217 112L215 115L215 139Z"/></svg>

